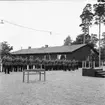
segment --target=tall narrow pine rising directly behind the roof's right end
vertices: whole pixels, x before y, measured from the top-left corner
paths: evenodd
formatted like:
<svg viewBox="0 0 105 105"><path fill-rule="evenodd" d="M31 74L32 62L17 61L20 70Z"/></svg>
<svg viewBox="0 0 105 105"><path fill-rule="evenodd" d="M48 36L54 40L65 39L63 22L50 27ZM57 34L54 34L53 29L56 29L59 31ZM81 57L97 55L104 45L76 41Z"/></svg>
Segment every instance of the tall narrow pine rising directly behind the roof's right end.
<svg viewBox="0 0 105 105"><path fill-rule="evenodd" d="M82 31L84 33L84 39L83 43L85 43L85 36L88 34L89 35L89 27L92 24L93 20L93 13L92 13L92 6L91 4L87 4L85 8L83 9L82 14L80 15L80 18L82 20L82 23L80 24L80 27L82 27Z"/></svg>

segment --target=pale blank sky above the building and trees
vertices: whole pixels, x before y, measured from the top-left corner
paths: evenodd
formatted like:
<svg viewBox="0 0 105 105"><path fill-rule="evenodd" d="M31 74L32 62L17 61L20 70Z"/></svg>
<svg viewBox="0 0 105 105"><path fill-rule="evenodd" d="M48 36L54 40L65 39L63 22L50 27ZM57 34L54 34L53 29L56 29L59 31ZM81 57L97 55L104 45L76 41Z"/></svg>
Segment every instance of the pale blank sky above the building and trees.
<svg viewBox="0 0 105 105"><path fill-rule="evenodd" d="M4 24L0 24L0 42L7 41L13 46L14 51L29 46L32 48L45 45L61 46L68 35L75 40L76 36L82 33L79 16L87 3L96 3L96 1L0 1L0 19L24 26L19 27L4 21ZM90 33L92 30L91 28ZM97 29L95 32L97 33Z"/></svg>

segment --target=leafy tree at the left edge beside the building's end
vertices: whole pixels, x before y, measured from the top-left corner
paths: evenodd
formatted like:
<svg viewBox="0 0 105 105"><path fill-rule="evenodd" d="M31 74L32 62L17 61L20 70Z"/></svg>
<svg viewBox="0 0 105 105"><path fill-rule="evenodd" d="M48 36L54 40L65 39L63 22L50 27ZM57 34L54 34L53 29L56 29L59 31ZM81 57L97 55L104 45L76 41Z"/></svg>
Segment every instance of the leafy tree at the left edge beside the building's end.
<svg viewBox="0 0 105 105"><path fill-rule="evenodd" d="M4 56L10 55L10 51L13 50L13 46L10 46L6 41L1 43L1 59Z"/></svg>

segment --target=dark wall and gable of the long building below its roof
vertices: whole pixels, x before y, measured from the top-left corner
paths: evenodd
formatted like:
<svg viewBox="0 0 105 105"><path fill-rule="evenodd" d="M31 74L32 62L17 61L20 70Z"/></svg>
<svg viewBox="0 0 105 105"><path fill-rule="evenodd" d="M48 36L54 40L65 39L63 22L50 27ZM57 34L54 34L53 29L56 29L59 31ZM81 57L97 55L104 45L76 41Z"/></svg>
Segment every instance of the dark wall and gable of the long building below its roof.
<svg viewBox="0 0 105 105"><path fill-rule="evenodd" d="M89 54L91 53L91 48L89 46L84 46L72 53L63 53L66 55L66 59L67 60L72 60L72 59L76 59L76 60L79 60L79 61L82 61L82 60L86 60L87 57L89 56ZM36 58L39 58L39 59L43 59L45 56L50 56L50 59L52 60L56 60L57 59L57 56L58 55L62 55L62 54L30 54L30 55L21 55L23 57L33 57L34 59ZM96 54L96 57L98 55Z"/></svg>

